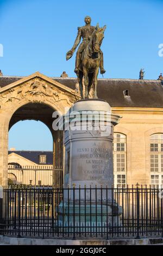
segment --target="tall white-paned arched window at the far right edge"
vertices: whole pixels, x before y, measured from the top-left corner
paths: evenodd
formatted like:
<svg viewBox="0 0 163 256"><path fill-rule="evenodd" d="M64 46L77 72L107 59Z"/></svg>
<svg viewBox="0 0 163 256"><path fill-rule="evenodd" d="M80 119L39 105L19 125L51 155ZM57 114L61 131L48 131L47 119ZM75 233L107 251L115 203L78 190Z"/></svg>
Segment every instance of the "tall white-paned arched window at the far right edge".
<svg viewBox="0 0 163 256"><path fill-rule="evenodd" d="M151 145L151 185L163 184L163 133L155 133L150 138Z"/></svg>

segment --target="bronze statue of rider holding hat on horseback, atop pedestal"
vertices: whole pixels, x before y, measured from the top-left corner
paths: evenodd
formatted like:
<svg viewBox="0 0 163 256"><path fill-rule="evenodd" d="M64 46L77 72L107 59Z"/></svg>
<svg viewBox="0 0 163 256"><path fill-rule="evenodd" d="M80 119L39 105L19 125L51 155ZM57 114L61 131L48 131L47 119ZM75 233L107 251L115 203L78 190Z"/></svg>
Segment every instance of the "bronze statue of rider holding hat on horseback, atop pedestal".
<svg viewBox="0 0 163 256"><path fill-rule="evenodd" d="M101 45L104 38L106 26L100 28L91 26L91 17L85 17L85 26L78 27L78 35L70 51L66 53L66 60L73 56L81 38L83 38L76 54L76 67L74 72L77 74L82 99L88 99L91 87L93 88L93 98L97 99L97 76L100 69L101 74L105 73L103 67L103 52ZM85 95L83 95L83 77L85 85Z"/></svg>

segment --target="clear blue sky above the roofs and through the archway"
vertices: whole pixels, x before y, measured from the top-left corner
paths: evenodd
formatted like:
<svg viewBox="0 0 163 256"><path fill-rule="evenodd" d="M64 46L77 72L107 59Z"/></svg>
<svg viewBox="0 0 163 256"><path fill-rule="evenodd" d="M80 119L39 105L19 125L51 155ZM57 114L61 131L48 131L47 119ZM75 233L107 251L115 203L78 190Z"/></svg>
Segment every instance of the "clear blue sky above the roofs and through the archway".
<svg viewBox="0 0 163 256"><path fill-rule="evenodd" d="M163 1L157 0L0 0L0 44L4 47L0 69L4 75L16 76L35 71L60 76L65 70L74 77L75 54L66 62L65 53L73 45L77 27L90 15L92 25L107 26L102 44L105 78L138 78L140 68L145 68L145 78L156 79L163 72L163 57L158 55L158 46L163 44L162 10ZM51 133L44 125L38 131L34 123L21 122L29 133L27 141L31 139L28 149L40 145L40 150L51 150ZM27 149L24 141L13 140L18 138L18 125L10 131L9 147ZM39 144L36 134L47 139Z"/></svg>

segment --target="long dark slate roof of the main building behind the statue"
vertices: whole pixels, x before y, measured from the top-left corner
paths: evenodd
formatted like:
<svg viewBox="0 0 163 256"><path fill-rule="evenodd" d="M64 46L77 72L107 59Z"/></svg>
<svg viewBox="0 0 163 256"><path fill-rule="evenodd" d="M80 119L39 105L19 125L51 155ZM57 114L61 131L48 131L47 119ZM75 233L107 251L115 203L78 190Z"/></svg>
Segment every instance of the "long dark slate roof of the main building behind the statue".
<svg viewBox="0 0 163 256"><path fill-rule="evenodd" d="M22 77L0 77L0 87L20 80ZM77 78L52 77L64 86L75 89ZM123 91L128 90L130 97L124 97ZM97 95L106 100L111 107L163 107L163 81L106 79L98 80Z"/></svg>

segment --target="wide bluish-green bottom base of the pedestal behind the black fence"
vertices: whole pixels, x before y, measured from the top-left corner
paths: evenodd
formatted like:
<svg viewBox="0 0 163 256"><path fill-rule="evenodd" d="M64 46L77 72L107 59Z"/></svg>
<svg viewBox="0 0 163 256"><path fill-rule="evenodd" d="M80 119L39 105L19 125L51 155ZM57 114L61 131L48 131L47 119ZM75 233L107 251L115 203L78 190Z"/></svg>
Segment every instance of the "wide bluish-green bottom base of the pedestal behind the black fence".
<svg viewBox="0 0 163 256"><path fill-rule="evenodd" d="M61 203L58 208L58 226L65 232L106 233L121 226L122 208L116 203L86 204Z"/></svg>

